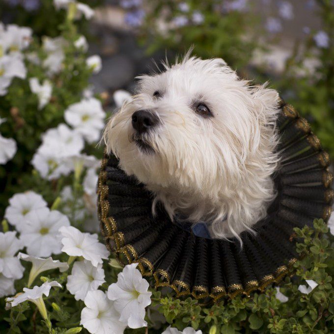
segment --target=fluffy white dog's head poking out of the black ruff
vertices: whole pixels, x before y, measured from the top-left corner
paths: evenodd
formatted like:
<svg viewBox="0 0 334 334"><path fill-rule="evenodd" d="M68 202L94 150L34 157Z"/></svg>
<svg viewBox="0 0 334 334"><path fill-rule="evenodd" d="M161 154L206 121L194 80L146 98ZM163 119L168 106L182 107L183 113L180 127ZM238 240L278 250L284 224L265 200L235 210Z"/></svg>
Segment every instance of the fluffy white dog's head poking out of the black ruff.
<svg viewBox="0 0 334 334"><path fill-rule="evenodd" d="M275 198L278 93L240 80L223 59L191 57L140 76L138 94L104 133L119 167L161 201L171 219L207 222L237 237Z"/></svg>

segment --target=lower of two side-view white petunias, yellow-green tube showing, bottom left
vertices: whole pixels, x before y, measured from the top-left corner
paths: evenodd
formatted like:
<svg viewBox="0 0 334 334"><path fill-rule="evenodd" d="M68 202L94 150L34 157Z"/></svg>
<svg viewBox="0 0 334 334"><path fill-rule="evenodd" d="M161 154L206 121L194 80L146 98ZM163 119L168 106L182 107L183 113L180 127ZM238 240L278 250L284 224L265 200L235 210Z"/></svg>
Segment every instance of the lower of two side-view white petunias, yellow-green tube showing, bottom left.
<svg viewBox="0 0 334 334"><path fill-rule="evenodd" d="M59 288L62 287L56 280L53 280L51 282L45 282L41 286L34 286L32 289L23 288L24 292L22 294L19 294L16 297L7 298L6 301L7 303L10 303L12 307L29 301L35 304L38 307L42 317L47 319L48 314L43 301L43 295L48 297L50 289L53 286L58 286Z"/></svg>

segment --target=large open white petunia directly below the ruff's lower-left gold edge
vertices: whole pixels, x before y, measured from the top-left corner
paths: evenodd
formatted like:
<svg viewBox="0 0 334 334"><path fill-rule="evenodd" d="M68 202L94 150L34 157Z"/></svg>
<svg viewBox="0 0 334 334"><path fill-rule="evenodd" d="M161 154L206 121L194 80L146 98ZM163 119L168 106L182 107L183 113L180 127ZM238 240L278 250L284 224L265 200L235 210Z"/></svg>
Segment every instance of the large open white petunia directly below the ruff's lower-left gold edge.
<svg viewBox="0 0 334 334"><path fill-rule="evenodd" d="M108 288L108 298L114 301L115 309L120 313L119 320L128 324L130 328L147 326L144 320L145 307L151 304L151 292L147 291L148 281L142 278L138 263L124 267L118 274L117 283Z"/></svg>

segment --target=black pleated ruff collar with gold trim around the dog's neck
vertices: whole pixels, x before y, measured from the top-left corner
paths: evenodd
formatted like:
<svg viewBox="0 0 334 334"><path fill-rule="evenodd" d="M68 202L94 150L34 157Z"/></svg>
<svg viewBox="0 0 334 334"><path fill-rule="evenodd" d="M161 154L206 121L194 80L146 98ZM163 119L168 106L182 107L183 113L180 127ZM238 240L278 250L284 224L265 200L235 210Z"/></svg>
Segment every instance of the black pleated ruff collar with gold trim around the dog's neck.
<svg viewBox="0 0 334 334"><path fill-rule="evenodd" d="M275 176L278 196L267 217L256 223L256 236L243 232L243 248L231 239L209 240L172 223L163 208L152 217L152 196L127 176L114 156L105 154L98 185L101 232L108 249L123 263L139 263L155 286L169 286L176 296L192 294L215 301L279 282L296 261L294 227L328 220L333 175L329 156L306 119L281 102L278 118L281 165Z"/></svg>

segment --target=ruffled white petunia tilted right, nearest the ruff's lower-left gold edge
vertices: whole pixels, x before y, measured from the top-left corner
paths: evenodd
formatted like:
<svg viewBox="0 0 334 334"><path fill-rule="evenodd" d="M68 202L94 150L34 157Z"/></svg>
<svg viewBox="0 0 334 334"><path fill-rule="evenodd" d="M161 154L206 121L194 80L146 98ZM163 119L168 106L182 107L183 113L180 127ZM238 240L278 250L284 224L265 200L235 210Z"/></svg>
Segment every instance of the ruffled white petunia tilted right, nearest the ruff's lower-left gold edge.
<svg viewBox="0 0 334 334"><path fill-rule="evenodd" d="M99 243L97 234L83 233L73 226L61 227L59 232L63 236L61 251L70 256L83 256L91 261L94 267L107 259L109 252L105 245Z"/></svg>

